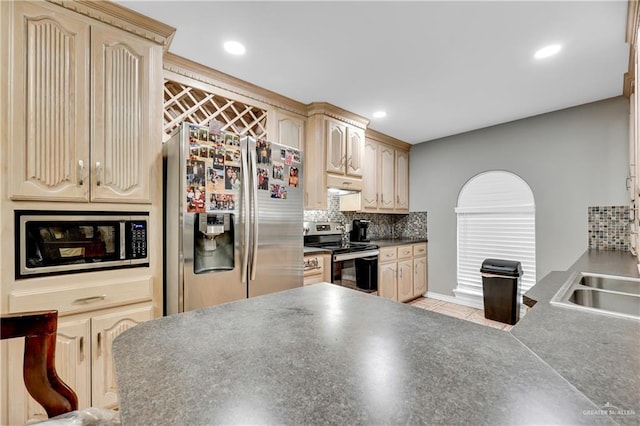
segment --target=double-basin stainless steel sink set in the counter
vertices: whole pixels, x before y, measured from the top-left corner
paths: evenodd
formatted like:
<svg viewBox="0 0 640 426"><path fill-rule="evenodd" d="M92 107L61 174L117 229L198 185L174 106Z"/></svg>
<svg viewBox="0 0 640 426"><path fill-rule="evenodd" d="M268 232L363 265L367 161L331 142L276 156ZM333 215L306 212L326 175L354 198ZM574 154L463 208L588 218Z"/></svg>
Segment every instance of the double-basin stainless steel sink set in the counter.
<svg viewBox="0 0 640 426"><path fill-rule="evenodd" d="M640 320L640 279L575 272L551 304Z"/></svg>

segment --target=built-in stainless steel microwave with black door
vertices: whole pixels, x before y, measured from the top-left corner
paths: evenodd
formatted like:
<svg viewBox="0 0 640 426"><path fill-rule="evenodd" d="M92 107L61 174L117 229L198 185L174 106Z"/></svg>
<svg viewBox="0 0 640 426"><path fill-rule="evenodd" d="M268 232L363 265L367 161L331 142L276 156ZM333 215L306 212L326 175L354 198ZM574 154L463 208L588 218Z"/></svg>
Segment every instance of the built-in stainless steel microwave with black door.
<svg viewBox="0 0 640 426"><path fill-rule="evenodd" d="M16 210L16 278L149 266L149 214Z"/></svg>

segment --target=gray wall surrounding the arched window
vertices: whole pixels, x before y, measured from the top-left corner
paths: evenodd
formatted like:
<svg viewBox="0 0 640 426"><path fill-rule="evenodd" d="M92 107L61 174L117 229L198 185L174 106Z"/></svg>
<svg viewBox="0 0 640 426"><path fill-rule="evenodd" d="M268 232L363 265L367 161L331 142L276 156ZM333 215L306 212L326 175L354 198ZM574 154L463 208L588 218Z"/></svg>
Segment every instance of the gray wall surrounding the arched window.
<svg viewBox="0 0 640 426"><path fill-rule="evenodd" d="M588 247L589 206L628 204L628 100L616 97L415 145L411 211L427 212L429 291L456 287L458 193L473 176L507 170L536 203L536 278Z"/></svg>

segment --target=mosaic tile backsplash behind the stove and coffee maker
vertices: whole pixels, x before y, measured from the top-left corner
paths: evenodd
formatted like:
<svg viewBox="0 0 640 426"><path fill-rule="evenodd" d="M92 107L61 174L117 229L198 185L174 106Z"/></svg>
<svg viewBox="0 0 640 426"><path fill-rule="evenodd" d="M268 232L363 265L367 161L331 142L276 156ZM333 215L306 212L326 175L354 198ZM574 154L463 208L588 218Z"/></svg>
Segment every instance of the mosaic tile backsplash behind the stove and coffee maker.
<svg viewBox="0 0 640 426"><path fill-rule="evenodd" d="M409 214L355 213L340 211L340 196L328 195L328 210L305 210L305 222L342 222L351 224L353 219L371 221L368 237L372 240L387 238L427 238L427 212Z"/></svg>

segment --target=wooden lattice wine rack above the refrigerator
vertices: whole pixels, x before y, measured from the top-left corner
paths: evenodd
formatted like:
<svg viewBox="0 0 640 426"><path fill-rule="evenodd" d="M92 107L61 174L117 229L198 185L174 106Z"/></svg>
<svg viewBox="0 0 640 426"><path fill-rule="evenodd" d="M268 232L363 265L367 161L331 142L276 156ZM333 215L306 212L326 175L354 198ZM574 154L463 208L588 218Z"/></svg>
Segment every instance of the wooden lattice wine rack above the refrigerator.
<svg viewBox="0 0 640 426"><path fill-rule="evenodd" d="M207 126L214 119L222 123L222 130L267 137L266 110L165 79L163 129L167 136L183 121Z"/></svg>

